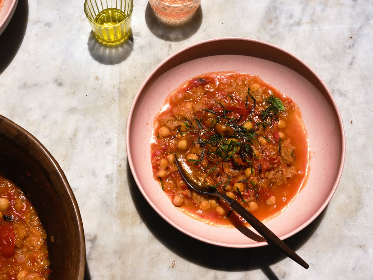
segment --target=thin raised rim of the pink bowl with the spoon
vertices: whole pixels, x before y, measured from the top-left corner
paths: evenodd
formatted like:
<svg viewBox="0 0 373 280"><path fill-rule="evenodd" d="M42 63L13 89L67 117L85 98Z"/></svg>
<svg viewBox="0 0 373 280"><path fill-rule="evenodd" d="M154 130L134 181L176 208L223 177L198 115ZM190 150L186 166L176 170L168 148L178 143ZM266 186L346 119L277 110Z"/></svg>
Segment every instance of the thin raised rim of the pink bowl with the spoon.
<svg viewBox="0 0 373 280"><path fill-rule="evenodd" d="M206 40L206 41L202 41L202 42L199 42L199 43L192 44L191 46L188 46L188 47L186 47L186 48L184 48L184 49L176 52L175 54L171 55L166 60L164 60L162 63L160 63L148 75L148 77L146 78L146 80L144 81L144 83L142 83L140 89L138 90L138 92L137 92L137 94L136 94L136 96L134 98L134 101L132 102L132 105L131 105L131 108L130 108L130 111L129 111L128 121L127 121L127 128L126 128L126 147L127 147L128 161L129 161L129 166L130 166L130 169L131 169L132 174L134 176L134 179L135 179L137 185L139 186L139 189L140 189L142 195L144 195L145 199L153 207L153 209L164 220L166 220L168 223L170 223L171 225L173 225L173 227L177 228L178 230L180 230L180 231L184 232L185 234L188 234L189 236L192 236L192 237L194 237L194 238L196 238L198 240L201 240L201 241L204 241L204 242L207 242L207 243L211 243L211 244L215 244L215 245L227 246L227 247L235 247L235 248L248 248L248 247L263 246L263 245L267 245L267 243L266 242L257 242L257 243L254 243L254 244L234 244L234 243L227 244L227 243L224 243L224 242L219 242L219 240L208 240L208 239L206 240L205 238L200 237L200 236L196 236L195 234L189 232L188 230L186 230L185 228L181 227L177 223L171 221L170 218L167 217L167 215L165 215L162 211L160 211L157 208L157 206L155 205L155 203L150 199L150 197L148 197L147 193L144 191L143 187L141 186L141 183L140 183L137 171L135 170L135 167L134 167L134 164L133 164L132 151L129 148L131 146L130 145L130 136L131 136L131 121L132 121L132 117L133 117L134 110L135 110L136 104L138 102L138 99L139 99L142 91L146 87L146 85L148 83L150 83L153 79L155 79L156 77L158 77L159 75L162 75L168 69L172 68L173 66L176 66L176 65L173 65L173 60L175 58L177 58L178 56L180 56L181 54L183 54L185 52L189 52L190 53L191 50L193 50L195 48L198 48L198 47L201 47L202 45L205 45L205 44L210 44L210 45L212 44L213 45L213 44L219 44L219 43L222 43L222 42L225 42L225 41L229 41L229 42L232 42L232 43L234 43L235 41L246 41L248 43L250 43L250 42L251 43L256 43L256 44L259 44L261 46L266 46L266 47L272 48L274 50L277 50L277 51L285 54L289 58L292 58L292 59L296 60L299 63L299 65L298 66L294 66L294 68L303 67L303 68L307 69L307 71L309 71L311 73L311 75L313 76L313 79L314 79L313 83L318 83L317 86L318 87L322 87L322 90L327 94L326 98L329 99L329 100L327 100L327 102L329 102L331 104L332 109L334 109L334 111L335 111L333 113L335 113L336 118L338 118L338 122L339 122L338 132L341 134L341 139L340 139L340 145L341 145L340 154L341 154L341 156L339 158L338 172L336 174L333 186L330 188L329 194L325 197L325 201L322 203L322 205L320 205L319 209L317 209L317 211L315 211L314 214L311 215L308 218L308 220L304 221L304 223L301 224L300 226L298 226L297 228L294 228L293 230L289 231L288 233L279 235L280 239L286 239L286 238L292 236L293 234L297 233L298 231L302 230L304 227L306 227L308 224L310 224L323 211L323 209L325 209L326 205L329 203L330 199L334 195L334 193L336 191L336 188L338 186L338 183L339 183L339 181L341 179L342 171L343 171L343 166L344 166L344 159L345 159L345 134L344 134L344 128L343 128L342 118L341 118L340 112L338 110L338 106L336 105L335 100L334 100L332 94L330 93L330 91L327 89L325 83L320 79L320 77L316 74L316 72L314 72L302 60L300 60L299 58L297 58L296 56L292 55L291 53L289 53L286 50L283 50L283 49L281 49L281 48L279 48L277 46L274 46L274 45L269 44L269 43L261 42L261 41L258 41L258 40L253 40L253 39L248 39L248 38L238 38L238 37L215 38L215 39L211 39L211 40ZM203 74L203 73L200 73L200 74ZM154 116L153 116L153 118L154 118ZM152 174L150 174L150 176L151 175ZM172 204L170 204L170 207L172 207Z"/></svg>

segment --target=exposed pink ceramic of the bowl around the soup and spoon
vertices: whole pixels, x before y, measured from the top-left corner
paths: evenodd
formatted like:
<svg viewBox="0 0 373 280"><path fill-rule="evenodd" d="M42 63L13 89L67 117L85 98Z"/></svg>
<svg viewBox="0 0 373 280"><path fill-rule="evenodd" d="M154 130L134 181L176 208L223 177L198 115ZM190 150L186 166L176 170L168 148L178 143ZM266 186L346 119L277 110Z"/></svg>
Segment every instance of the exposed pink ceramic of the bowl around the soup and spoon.
<svg viewBox="0 0 373 280"><path fill-rule="evenodd" d="M290 237L310 224L335 193L344 165L345 136L338 107L325 83L303 61L271 44L217 38L186 47L157 66L141 85L129 112L126 147L134 179L153 209L191 237L234 248L267 245L251 227L216 227L185 215L152 177L153 120L167 94L189 78L215 71L259 75L291 97L302 111L311 151L308 181L285 211L265 223L280 239Z"/></svg>

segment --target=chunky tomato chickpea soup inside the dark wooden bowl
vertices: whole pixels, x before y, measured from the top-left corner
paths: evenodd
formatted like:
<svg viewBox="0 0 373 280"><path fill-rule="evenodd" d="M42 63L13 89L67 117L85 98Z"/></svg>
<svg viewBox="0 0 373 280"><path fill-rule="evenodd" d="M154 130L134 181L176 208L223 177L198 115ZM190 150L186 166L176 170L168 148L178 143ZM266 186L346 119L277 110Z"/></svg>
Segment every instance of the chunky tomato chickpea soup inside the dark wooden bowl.
<svg viewBox="0 0 373 280"><path fill-rule="evenodd" d="M0 279L48 279L46 238L29 200L0 176Z"/></svg>

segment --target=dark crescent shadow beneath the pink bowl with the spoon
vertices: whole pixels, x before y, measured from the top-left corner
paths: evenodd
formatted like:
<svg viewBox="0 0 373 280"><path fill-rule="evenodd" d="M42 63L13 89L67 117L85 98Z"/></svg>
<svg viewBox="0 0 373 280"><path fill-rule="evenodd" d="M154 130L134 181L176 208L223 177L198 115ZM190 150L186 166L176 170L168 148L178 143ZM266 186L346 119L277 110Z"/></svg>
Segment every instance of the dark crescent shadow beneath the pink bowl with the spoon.
<svg viewBox="0 0 373 280"><path fill-rule="evenodd" d="M151 233L172 252L187 261L209 269L220 271L248 271L260 269L269 279L278 279L271 270L270 265L282 261L287 257L273 245L256 248L227 248L211 245L189 237L164 221L163 218L151 208L138 189L128 162L127 170L129 190L138 214ZM326 208L311 224L297 234L287 238L284 242L294 251L297 251L297 249L301 248L314 234L325 212ZM235 256L235 259L245 259L245 261L227 262L226 258L206 258L203 254L196 253L197 251L209 252L212 256ZM311 260L307 259L307 256L301 257L306 262L311 262Z"/></svg>

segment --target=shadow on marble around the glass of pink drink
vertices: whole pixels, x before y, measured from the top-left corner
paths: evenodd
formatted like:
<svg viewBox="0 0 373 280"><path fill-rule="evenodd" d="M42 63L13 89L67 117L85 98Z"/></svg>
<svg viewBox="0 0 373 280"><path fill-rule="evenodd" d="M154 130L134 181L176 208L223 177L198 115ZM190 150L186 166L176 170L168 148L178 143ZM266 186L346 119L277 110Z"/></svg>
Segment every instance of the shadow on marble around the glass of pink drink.
<svg viewBox="0 0 373 280"><path fill-rule="evenodd" d="M202 23L202 9L199 6L192 18L184 24L168 25L157 19L148 2L145 9L145 22L149 30L156 37L171 42L182 41L191 37L200 28Z"/></svg>

